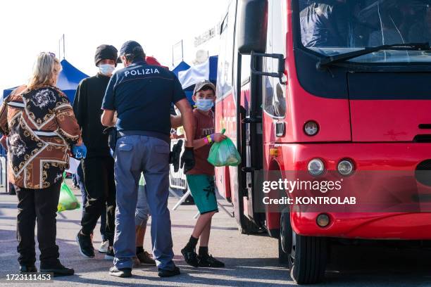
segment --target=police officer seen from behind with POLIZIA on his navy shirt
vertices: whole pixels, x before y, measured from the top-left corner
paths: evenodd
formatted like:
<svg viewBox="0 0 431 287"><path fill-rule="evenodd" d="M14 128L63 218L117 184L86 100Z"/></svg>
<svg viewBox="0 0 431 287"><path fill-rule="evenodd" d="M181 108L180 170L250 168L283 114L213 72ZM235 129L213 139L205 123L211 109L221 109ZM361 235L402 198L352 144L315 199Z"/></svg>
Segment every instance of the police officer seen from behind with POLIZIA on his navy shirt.
<svg viewBox="0 0 431 287"><path fill-rule="evenodd" d="M135 210L141 172L146 181L146 196L151 210L151 243L158 276L175 276L180 269L173 262L170 233L169 153L170 103L180 109L186 133L182 155L185 171L194 167L193 115L177 77L164 68L145 62L142 46L128 41L120 49L125 68L116 72L108 84L102 103L101 122L117 129L115 183L117 211L112 276L132 276L135 256ZM117 113L118 120L114 113Z"/></svg>

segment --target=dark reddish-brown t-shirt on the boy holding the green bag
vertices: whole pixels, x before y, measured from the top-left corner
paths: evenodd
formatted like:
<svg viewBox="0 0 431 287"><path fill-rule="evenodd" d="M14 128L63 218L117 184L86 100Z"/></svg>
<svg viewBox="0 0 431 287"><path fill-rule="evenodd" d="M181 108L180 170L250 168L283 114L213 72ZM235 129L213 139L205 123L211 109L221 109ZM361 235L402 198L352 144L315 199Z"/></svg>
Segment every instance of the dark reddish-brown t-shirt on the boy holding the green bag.
<svg viewBox="0 0 431 287"><path fill-rule="evenodd" d="M203 139L214 133L214 114L212 111L208 115L199 112L196 108L193 110L194 117L194 139ZM187 174L208 174L214 175L214 166L208 162L208 154L211 146L206 145L194 150L194 160L196 164L193 170Z"/></svg>

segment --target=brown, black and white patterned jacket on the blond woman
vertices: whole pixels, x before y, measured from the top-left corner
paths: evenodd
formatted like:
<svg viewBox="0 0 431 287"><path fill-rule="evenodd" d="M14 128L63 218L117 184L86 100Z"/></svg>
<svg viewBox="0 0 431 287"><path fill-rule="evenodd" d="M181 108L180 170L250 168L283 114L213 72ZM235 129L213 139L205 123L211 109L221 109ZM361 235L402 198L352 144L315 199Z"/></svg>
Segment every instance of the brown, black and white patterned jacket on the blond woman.
<svg viewBox="0 0 431 287"><path fill-rule="evenodd" d="M51 86L15 89L0 108L0 132L8 136L8 179L27 189L61 181L81 134L68 97Z"/></svg>

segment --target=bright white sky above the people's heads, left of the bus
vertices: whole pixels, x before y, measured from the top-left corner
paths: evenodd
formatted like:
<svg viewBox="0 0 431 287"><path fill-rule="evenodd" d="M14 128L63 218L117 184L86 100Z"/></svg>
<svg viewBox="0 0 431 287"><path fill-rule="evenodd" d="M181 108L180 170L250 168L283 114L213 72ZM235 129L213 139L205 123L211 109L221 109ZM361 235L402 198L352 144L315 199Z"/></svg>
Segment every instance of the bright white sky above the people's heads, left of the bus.
<svg viewBox="0 0 431 287"><path fill-rule="evenodd" d="M0 1L0 92L25 84L41 51L58 55L65 34L65 58L94 75L99 44L118 50L133 39L148 56L172 63L172 46L213 27L230 0L6 0ZM194 47L185 47L193 59ZM191 60L189 60L191 62Z"/></svg>

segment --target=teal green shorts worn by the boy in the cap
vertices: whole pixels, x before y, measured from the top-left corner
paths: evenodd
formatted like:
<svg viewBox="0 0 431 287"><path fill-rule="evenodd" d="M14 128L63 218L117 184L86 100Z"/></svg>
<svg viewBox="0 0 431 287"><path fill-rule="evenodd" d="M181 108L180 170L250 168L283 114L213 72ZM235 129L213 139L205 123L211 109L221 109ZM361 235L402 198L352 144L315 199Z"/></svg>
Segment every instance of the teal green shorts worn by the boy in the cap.
<svg viewBox="0 0 431 287"><path fill-rule="evenodd" d="M186 177L199 213L218 212L214 177L206 174L187 174Z"/></svg>

